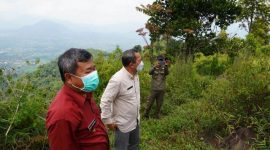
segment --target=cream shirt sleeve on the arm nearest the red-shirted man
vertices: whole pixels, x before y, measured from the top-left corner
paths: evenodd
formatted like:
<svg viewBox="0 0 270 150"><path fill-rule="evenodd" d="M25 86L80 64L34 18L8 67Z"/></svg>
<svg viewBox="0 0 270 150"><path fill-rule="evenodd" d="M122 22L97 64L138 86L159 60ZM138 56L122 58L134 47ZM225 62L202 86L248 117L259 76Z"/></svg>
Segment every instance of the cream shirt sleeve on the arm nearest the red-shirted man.
<svg viewBox="0 0 270 150"><path fill-rule="evenodd" d="M104 124L113 123L112 103L115 100L116 96L118 95L119 90L120 90L120 82L112 78L109 81L100 101L101 119L104 122Z"/></svg>

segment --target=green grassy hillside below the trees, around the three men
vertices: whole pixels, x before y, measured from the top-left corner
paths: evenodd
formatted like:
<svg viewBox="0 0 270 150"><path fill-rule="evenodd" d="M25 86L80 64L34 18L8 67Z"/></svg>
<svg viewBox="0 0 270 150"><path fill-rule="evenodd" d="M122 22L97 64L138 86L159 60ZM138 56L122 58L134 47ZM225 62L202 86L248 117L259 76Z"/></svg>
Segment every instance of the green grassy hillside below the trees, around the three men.
<svg viewBox="0 0 270 150"><path fill-rule="evenodd" d="M121 68L121 62L115 61L120 59L121 50L106 57L97 53L95 63L101 83L95 99L99 103L108 80ZM141 113L150 94L147 51L143 55L146 67L140 73ZM234 140L236 129L252 129L250 132L256 134L256 138L245 135L236 144L248 142L246 146L255 149L269 148L270 91L265 89L270 78L269 56L243 53L233 63L227 57L198 54L194 62L175 58L161 119L142 118L140 149L228 148L235 146L230 140ZM48 149L45 114L62 85L56 62L41 65L19 80L3 74L0 80L0 148ZM252 110L248 112L247 108ZM111 132L110 138L113 141Z"/></svg>

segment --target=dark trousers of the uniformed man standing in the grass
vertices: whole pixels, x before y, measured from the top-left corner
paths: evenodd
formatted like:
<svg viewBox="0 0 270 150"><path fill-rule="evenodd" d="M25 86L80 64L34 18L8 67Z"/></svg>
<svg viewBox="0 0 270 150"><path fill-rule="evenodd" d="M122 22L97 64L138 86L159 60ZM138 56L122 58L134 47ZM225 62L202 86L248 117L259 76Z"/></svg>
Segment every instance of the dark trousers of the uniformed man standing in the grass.
<svg viewBox="0 0 270 150"><path fill-rule="evenodd" d="M161 106L163 104L164 94L165 94L165 91L163 91L163 90L160 90L160 91L152 90L151 91L151 95L150 95L150 97L148 99L145 114L144 114L145 117L149 116L151 107L153 106L155 101L156 101L156 104L157 104L157 109L156 109L156 114L155 115L156 115L157 118L160 117L160 111L161 111Z"/></svg>

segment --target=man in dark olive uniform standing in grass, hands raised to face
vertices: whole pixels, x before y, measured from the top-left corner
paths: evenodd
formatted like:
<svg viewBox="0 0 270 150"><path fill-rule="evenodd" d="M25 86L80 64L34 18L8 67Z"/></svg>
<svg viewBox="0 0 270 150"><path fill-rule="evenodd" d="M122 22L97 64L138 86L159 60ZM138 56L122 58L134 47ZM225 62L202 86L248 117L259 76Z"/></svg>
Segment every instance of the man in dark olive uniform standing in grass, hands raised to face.
<svg viewBox="0 0 270 150"><path fill-rule="evenodd" d="M157 63L154 67L151 68L149 74L152 76L151 95L148 99L144 117L149 118L151 107L154 101L156 101L157 108L155 115L156 118L160 118L161 106L165 94L165 83L166 83L165 79L166 76L169 74L167 62L165 61L165 58L162 55L159 55L157 57Z"/></svg>

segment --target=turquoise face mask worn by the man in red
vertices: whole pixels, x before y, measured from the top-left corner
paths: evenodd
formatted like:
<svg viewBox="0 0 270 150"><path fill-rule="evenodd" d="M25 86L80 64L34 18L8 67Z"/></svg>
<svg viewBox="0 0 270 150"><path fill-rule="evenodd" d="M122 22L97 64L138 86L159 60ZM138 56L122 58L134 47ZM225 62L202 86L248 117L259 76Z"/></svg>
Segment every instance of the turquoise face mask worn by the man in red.
<svg viewBox="0 0 270 150"><path fill-rule="evenodd" d="M78 77L78 76L75 76L75 77ZM98 78L98 73L96 70L89 73L86 76L78 77L78 78L82 80L83 85L84 85L83 88L78 88L77 86L72 84L73 87L80 89L84 92L93 92L97 89L98 84L99 84L99 78Z"/></svg>

